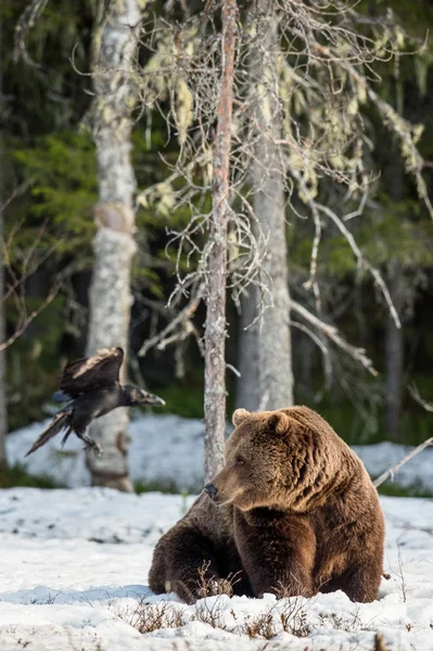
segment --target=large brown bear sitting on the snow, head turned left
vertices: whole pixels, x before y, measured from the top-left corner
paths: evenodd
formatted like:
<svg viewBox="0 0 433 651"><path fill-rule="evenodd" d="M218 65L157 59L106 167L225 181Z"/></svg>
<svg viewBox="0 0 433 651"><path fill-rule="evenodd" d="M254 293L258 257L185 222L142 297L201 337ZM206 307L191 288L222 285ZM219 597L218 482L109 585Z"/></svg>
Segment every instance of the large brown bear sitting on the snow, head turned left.
<svg viewBox="0 0 433 651"><path fill-rule="evenodd" d="M358 457L307 407L237 409L233 424L224 469L158 541L151 589L374 600L384 519Z"/></svg>

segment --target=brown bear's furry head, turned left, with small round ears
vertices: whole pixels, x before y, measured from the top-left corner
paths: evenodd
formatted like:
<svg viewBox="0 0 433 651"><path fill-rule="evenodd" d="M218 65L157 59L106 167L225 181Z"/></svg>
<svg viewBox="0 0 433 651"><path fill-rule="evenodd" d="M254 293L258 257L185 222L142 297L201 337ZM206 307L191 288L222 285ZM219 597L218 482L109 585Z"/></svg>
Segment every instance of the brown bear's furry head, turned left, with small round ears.
<svg viewBox="0 0 433 651"><path fill-rule="evenodd" d="M301 512L338 470L341 439L307 407L237 409L233 425L225 467L206 486L217 505Z"/></svg>

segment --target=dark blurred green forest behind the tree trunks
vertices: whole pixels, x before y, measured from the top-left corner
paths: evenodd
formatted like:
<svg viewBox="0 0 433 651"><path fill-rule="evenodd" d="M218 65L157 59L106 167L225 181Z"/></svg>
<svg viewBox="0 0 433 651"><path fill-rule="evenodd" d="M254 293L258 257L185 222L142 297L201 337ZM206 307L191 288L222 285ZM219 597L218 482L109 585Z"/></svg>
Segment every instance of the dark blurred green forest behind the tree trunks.
<svg viewBox="0 0 433 651"><path fill-rule="evenodd" d="M29 315L59 291L25 332L7 349L9 429L46 417L44 405L56 388L64 360L82 356L88 319L97 202L94 148L88 129L91 107L90 69L92 2L51 0L27 37L34 65L13 60L14 29L25 0L3 0L0 8L0 187L7 243L7 286L25 279L20 292L7 296L7 337L16 330L23 306ZM391 8L405 29L424 40L433 26L429 0L361 2L366 16ZM163 11L157 2L153 11ZM74 52L74 65L72 54ZM419 148L433 173L433 43L422 56L383 65L378 92L404 117L424 127ZM81 72L82 74L79 74ZM362 218L351 225L357 242L385 279L399 311L398 331L371 277L360 273L343 237L327 232L321 244L319 280L323 311L347 341L367 349L379 370L371 378L342 352L332 353L332 374L323 374L316 344L293 328L295 401L316 408L349 443L390 439L417 444L430 436L431 417L412 399L416 383L433 398L433 225L418 199L413 179L405 174L399 146L381 126L374 111L365 120L378 170ZM161 152L176 158L178 143L167 141L157 111L137 114L133 164L139 189L167 174ZM150 350L138 358L143 341L170 319L165 309L175 285L175 251L165 251L173 220L186 219L169 208L138 206L138 255L133 264L131 356L129 374L165 398L166 410L203 418L203 360L194 340L181 350ZM293 221L296 221L296 228ZM292 294L306 295L314 229L310 220L288 216ZM203 331L204 307L194 322ZM239 316L229 303L227 361L237 366L241 345ZM229 410L235 404L235 376L229 374Z"/></svg>

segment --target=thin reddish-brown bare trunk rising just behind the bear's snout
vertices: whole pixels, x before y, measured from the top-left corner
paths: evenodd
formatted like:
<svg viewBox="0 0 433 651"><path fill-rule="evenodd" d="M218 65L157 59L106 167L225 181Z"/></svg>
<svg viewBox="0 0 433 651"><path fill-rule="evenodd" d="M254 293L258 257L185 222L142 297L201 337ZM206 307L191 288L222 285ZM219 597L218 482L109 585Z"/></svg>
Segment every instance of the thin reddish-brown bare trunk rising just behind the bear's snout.
<svg viewBox="0 0 433 651"><path fill-rule="evenodd" d="M206 483L222 468L226 437L227 220L237 12L235 0L222 0L222 75L214 144L213 208L206 259L204 379Z"/></svg>

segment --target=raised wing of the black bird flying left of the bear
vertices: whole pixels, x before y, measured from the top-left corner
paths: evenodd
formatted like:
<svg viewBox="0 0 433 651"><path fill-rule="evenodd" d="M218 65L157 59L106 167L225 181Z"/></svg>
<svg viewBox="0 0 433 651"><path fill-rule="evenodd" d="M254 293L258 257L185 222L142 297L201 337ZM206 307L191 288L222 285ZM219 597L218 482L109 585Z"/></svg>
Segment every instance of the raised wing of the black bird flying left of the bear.
<svg viewBox="0 0 433 651"><path fill-rule="evenodd" d="M72 361L64 369L60 390L77 396L118 382L124 352L122 348L100 348L92 357Z"/></svg>

